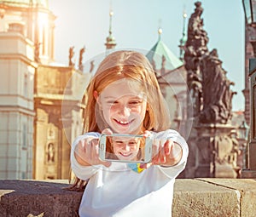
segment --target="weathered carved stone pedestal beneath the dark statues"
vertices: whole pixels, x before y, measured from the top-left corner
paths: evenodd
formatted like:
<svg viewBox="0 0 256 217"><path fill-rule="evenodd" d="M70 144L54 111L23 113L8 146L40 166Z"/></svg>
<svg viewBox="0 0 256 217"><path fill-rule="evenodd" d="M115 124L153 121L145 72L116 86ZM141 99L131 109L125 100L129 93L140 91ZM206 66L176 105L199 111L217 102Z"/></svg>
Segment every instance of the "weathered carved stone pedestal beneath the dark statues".
<svg viewBox="0 0 256 217"><path fill-rule="evenodd" d="M195 140L195 177L236 178L238 142L231 138L232 126L200 124Z"/></svg>

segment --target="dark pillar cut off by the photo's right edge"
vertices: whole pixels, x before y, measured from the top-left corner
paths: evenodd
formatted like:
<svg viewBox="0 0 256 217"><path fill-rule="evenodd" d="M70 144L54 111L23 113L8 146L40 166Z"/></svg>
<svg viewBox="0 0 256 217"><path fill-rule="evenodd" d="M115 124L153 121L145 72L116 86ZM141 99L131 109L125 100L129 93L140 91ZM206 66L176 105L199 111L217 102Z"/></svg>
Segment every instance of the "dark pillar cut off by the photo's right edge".
<svg viewBox="0 0 256 217"><path fill-rule="evenodd" d="M242 171L242 178L256 178L256 58L249 62L250 77L250 139L248 144L248 168Z"/></svg>

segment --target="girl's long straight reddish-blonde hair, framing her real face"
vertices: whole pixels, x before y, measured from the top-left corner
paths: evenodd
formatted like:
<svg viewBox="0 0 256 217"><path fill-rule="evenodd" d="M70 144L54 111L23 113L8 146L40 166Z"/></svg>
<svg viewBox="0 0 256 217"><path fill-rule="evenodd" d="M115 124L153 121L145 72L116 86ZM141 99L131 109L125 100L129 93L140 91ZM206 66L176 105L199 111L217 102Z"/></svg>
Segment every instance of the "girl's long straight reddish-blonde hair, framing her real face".
<svg viewBox="0 0 256 217"><path fill-rule="evenodd" d="M98 67L86 89L87 101L84 111L84 133L100 132L104 124L94 92L102 93L110 83L126 78L141 85L147 95L148 109L143 120L144 130L162 131L170 128L171 121L154 69L144 54L136 51L116 51L109 54ZM107 128L108 126L106 126ZM76 180L76 183L79 183Z"/></svg>

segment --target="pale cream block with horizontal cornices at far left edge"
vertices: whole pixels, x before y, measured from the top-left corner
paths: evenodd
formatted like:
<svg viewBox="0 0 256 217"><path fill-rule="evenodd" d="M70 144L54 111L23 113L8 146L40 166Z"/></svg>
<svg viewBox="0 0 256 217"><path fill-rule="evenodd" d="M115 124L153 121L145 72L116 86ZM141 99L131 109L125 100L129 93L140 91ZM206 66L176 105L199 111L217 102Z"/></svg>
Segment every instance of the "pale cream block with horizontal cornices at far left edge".
<svg viewBox="0 0 256 217"><path fill-rule="evenodd" d="M33 43L15 32L0 32L0 177L32 178L34 74Z"/></svg>

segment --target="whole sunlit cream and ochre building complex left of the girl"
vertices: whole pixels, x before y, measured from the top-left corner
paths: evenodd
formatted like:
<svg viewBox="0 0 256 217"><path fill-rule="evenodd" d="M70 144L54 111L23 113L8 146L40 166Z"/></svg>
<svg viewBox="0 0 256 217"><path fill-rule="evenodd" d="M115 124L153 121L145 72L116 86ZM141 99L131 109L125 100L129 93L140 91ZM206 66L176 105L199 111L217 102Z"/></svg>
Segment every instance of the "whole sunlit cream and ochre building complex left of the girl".
<svg viewBox="0 0 256 217"><path fill-rule="evenodd" d="M0 1L0 179L70 176L90 77L55 66L54 31L47 0Z"/></svg>

